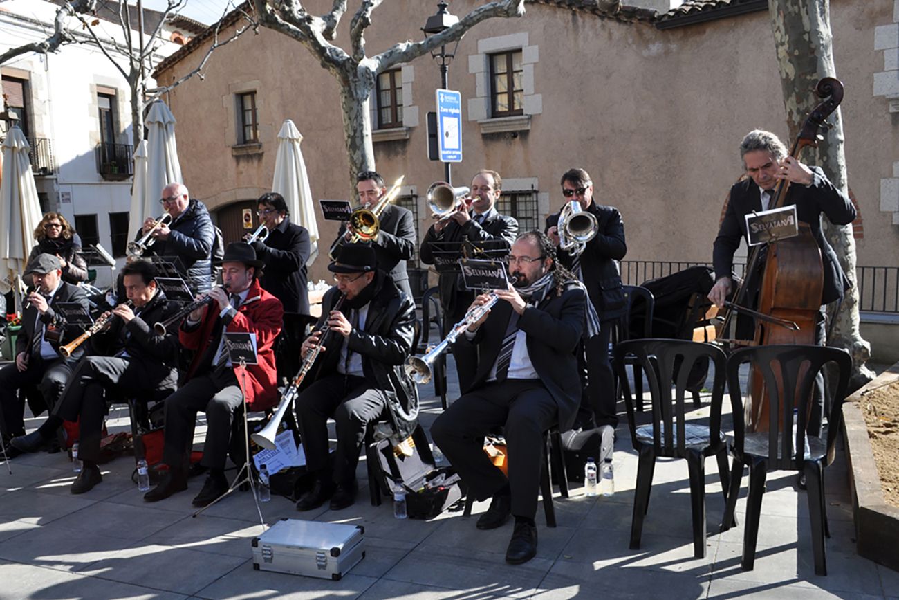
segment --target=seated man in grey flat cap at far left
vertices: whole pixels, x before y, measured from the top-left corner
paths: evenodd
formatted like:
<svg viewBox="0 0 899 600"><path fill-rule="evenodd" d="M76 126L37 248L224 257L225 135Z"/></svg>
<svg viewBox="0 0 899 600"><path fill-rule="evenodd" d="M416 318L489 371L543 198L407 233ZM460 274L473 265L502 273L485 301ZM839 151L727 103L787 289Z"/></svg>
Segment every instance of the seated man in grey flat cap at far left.
<svg viewBox="0 0 899 600"><path fill-rule="evenodd" d="M63 302L76 302L89 309L87 295L76 285L62 281L62 264L57 256L35 256L24 274L31 274L38 289L32 291L26 301L30 304L22 311L22 330L15 342L15 363L0 369L0 405L2 405L3 434L7 438L25 433L24 399L22 388L37 386L44 407L52 410L66 387L69 375L84 349L77 349L69 358L59 354L59 345L75 339L82 328L67 325L57 312ZM58 336L58 334L62 336ZM40 415L44 407L32 406L32 412ZM12 452L17 454L17 451Z"/></svg>

